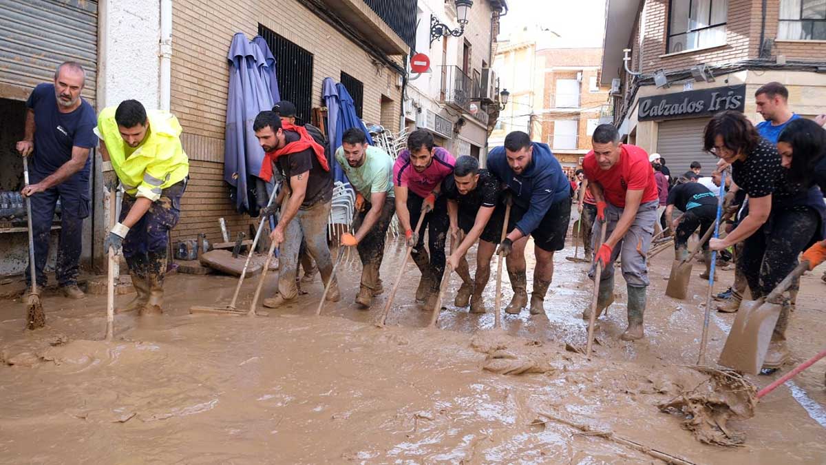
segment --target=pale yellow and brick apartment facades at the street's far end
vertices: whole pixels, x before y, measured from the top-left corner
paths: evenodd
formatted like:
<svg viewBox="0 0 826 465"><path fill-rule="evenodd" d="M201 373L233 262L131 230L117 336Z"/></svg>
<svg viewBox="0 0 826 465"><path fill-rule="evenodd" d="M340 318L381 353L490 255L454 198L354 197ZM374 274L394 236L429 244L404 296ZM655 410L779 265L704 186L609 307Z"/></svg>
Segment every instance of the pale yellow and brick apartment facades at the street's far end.
<svg viewBox="0 0 826 465"><path fill-rule="evenodd" d="M491 144L511 131L528 132L548 144L563 169L572 172L591 150L591 134L609 121L609 88L600 84L602 50L577 47L553 31L525 28L502 41L494 68L510 100Z"/></svg>

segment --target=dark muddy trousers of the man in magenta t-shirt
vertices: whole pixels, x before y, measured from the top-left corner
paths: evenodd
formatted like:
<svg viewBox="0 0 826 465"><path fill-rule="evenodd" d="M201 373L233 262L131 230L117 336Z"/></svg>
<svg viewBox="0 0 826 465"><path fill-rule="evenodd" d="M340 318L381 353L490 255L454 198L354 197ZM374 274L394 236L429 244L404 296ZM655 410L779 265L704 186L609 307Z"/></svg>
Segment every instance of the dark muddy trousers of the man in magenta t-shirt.
<svg viewBox="0 0 826 465"><path fill-rule="evenodd" d="M419 223L419 215L421 214L421 204L425 199L419 197L413 192L407 195L407 211L411 216L411 228L415 228L416 223ZM422 277L430 279L430 291L439 292L439 283L442 282L442 275L444 274L444 263L447 257L444 256L444 243L448 235L448 228L450 227L450 220L448 218L448 202L447 199L439 197L436 199L433 211L425 214L425 219L421 223L419 230L419 242L416 243L411 252L413 261L419 270L422 272ZM427 245L430 250L430 257L425 250L425 231L427 231Z"/></svg>

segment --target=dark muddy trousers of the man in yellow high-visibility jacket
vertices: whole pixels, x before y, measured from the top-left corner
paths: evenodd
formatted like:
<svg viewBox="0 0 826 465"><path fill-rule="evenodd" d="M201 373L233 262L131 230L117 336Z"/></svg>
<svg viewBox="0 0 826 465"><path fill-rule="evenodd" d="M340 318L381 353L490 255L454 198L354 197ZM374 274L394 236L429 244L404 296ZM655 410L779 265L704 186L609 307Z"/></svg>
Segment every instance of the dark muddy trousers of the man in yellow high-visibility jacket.
<svg viewBox="0 0 826 465"><path fill-rule="evenodd" d="M161 191L160 199L126 233L123 239L123 257L129 272L142 278L157 276L163 280L167 265L169 231L181 217L181 198L187 189L187 180L170 185ZM136 197L123 195L121 223L135 205Z"/></svg>

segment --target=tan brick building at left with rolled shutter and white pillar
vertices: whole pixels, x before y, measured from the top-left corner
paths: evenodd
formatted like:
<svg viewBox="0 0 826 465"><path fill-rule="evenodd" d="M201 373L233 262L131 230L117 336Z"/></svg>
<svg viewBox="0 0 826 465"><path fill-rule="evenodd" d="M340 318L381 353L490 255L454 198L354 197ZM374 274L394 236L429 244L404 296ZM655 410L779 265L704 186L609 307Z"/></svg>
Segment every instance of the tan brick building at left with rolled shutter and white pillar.
<svg viewBox="0 0 826 465"><path fill-rule="evenodd" d="M2 2L0 139L20 140L31 89L51 82L59 63L78 61L88 70L83 97L97 111L136 98L178 117L190 182L173 242L200 232L220 242L218 218L225 218L233 235L248 232L254 222L236 213L223 180L227 54L235 33L268 41L281 96L297 104L305 121L312 109L324 108L321 82L330 77L347 87L365 122L397 132L404 120L406 57L415 48L415 14L415 0ZM13 143L2 147L0 162L10 169L0 175L0 190L19 191L20 157ZM105 260L109 212L99 164L96 155L89 192L93 211L84 223L85 266ZM12 228L0 218L0 234L8 238L0 241L5 247L0 275L21 272L26 228Z"/></svg>

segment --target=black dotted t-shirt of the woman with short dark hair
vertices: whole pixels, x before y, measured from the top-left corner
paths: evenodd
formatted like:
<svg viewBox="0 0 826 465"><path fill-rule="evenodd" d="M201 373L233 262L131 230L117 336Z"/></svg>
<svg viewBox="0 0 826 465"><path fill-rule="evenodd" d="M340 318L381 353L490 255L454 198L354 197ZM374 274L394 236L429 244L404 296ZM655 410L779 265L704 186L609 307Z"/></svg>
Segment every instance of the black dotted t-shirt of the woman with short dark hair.
<svg viewBox="0 0 826 465"><path fill-rule="evenodd" d="M776 146L763 138L745 161L735 161L731 167L734 184L753 199L774 194L786 178Z"/></svg>

